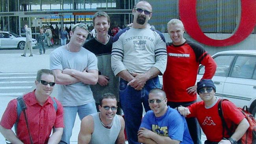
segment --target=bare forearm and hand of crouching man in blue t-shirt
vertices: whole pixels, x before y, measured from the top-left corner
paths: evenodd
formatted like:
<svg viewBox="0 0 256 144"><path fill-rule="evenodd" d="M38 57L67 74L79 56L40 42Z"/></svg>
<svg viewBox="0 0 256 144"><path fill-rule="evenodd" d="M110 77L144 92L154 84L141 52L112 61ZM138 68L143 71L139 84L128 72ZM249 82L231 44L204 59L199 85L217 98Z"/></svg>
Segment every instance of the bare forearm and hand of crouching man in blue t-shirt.
<svg viewBox="0 0 256 144"><path fill-rule="evenodd" d="M138 138L140 137L151 138L157 144L180 144L179 140L173 140L170 137L158 135L144 127L141 127L138 131Z"/></svg>

